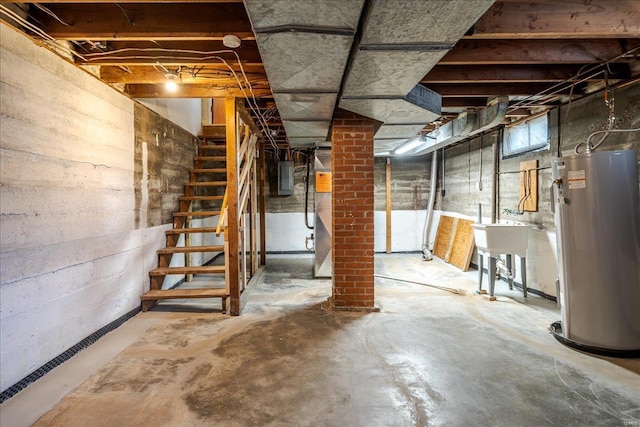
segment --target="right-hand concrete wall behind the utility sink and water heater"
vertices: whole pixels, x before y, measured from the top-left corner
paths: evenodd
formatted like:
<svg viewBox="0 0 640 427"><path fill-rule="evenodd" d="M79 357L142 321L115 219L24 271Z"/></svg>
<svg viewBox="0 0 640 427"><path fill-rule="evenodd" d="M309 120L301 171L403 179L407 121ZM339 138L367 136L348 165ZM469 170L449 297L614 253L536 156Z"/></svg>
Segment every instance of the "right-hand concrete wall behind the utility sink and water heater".
<svg viewBox="0 0 640 427"><path fill-rule="evenodd" d="M616 128L629 129L640 127L640 84L617 89L615 94ZM559 115L559 116L558 116ZM525 154L499 161L497 220L499 222L520 222L532 226L529 231L529 249L527 251L527 281L532 288L556 296L555 281L558 277L556 259L555 221L551 212L549 188L551 170L539 171L537 212L513 215L505 209L516 210L519 194L520 162L538 160L539 167L548 168L558 152L558 134L563 155L573 154L573 148L579 142L586 141L588 135L606 127L608 108L602 93L564 105L553 110L549 116L550 149ZM558 124L558 118L560 123ZM436 205L441 209L456 212L471 219L477 218L478 204L482 204L485 222L491 215L491 173L492 143L494 134L487 134L456 147L445 150L445 197L438 195ZM594 138L593 141L598 141ZM612 134L600 150L634 149L638 150L639 133ZM480 167L482 156L482 167ZM442 166L442 165L441 165ZM481 181L482 190L477 182ZM441 188L439 180L439 188ZM615 207L607 207L607 209ZM485 265L486 267L486 265ZM517 275L520 280L520 273Z"/></svg>

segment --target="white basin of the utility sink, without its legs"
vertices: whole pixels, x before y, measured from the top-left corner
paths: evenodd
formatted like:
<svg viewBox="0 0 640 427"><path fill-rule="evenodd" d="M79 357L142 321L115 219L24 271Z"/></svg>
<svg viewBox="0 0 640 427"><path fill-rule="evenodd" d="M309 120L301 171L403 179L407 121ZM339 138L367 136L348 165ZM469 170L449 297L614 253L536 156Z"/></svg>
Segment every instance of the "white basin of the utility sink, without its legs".
<svg viewBox="0 0 640 427"><path fill-rule="evenodd" d="M528 225L471 224L476 246L490 257L515 254L524 258L527 254Z"/></svg>

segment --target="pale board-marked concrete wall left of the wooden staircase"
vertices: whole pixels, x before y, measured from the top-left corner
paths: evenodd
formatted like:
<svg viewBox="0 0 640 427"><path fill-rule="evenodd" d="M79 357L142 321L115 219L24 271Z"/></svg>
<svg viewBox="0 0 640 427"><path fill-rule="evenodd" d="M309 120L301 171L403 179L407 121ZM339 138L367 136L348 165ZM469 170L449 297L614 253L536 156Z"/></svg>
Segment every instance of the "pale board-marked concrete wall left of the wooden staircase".
<svg viewBox="0 0 640 427"><path fill-rule="evenodd" d="M171 126L141 137L146 108L6 25L0 31L4 390L139 307L170 227L154 183L174 188L164 185L186 167L165 174L150 147L172 145L186 159L194 141ZM143 115L157 125L155 113Z"/></svg>

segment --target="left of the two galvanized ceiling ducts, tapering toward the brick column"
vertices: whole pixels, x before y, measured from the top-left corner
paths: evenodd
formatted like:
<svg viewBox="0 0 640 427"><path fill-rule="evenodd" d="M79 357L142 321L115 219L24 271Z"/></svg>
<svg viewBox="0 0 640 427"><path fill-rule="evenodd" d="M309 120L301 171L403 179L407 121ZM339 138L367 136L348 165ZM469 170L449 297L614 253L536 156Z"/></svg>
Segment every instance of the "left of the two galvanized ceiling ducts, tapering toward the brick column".
<svg viewBox="0 0 640 427"><path fill-rule="evenodd" d="M292 147L325 141L364 0L245 0Z"/></svg>

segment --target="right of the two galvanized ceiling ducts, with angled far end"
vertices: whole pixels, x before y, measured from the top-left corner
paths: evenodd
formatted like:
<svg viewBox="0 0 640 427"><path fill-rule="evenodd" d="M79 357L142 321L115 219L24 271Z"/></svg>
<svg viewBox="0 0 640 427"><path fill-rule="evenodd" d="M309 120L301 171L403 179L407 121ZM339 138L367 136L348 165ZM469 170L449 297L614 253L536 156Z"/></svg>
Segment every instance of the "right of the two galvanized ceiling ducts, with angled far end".
<svg viewBox="0 0 640 427"><path fill-rule="evenodd" d="M418 83L493 3L368 3L339 106L384 123L374 137L376 152L415 137L440 116L440 96Z"/></svg>

